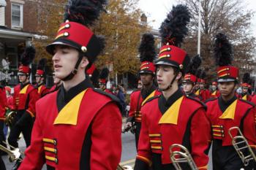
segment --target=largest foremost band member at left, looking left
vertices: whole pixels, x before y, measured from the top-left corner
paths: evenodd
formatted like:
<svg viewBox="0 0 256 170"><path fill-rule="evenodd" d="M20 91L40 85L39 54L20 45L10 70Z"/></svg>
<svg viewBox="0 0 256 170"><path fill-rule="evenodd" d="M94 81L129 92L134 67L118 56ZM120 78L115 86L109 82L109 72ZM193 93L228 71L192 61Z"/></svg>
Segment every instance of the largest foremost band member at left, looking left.
<svg viewBox="0 0 256 170"><path fill-rule="evenodd" d="M94 89L86 68L102 50L89 29L105 1L69 0L64 23L46 47L53 55L59 90L37 102L31 146L19 170L116 170L121 158L121 114L118 100Z"/></svg>

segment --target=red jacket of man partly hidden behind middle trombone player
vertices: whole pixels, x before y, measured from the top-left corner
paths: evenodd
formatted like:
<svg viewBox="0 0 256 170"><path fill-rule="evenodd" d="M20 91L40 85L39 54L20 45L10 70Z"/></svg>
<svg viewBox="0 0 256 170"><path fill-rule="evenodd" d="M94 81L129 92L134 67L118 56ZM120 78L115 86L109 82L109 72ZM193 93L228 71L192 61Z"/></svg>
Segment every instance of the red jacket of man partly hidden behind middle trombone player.
<svg viewBox="0 0 256 170"><path fill-rule="evenodd" d="M154 90L151 94L149 94L144 100L141 95L141 90L135 90L132 92L130 96L130 106L129 106L129 119L132 120L134 117L135 122L141 122L141 106L145 104L145 102L154 96L158 96L161 94L159 90ZM132 118L131 118L132 117Z"/></svg>

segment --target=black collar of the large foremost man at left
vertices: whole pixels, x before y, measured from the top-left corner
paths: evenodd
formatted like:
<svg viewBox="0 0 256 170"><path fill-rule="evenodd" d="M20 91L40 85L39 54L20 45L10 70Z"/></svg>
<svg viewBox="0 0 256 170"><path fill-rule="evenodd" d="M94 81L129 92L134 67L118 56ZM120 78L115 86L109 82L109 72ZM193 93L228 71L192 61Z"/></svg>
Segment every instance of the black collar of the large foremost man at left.
<svg viewBox="0 0 256 170"><path fill-rule="evenodd" d="M83 90L86 90L86 88L93 88L93 87L94 86L91 85L91 82L89 82L89 79L83 80L83 82L80 82L78 85L75 85L73 88L70 88L68 91L64 89L64 85L61 85L58 91L58 96L57 96L57 107L59 112L72 98L77 96Z"/></svg>

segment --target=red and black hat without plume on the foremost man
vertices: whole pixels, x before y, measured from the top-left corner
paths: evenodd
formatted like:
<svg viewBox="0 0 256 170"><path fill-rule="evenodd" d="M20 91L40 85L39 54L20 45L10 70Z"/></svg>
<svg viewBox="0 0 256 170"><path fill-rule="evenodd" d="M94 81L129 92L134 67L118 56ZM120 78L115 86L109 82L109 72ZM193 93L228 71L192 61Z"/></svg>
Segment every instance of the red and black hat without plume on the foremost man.
<svg viewBox="0 0 256 170"><path fill-rule="evenodd" d="M48 53L53 55L55 45L75 47L85 53L91 62L94 62L100 52L99 40L94 33L80 23L69 21L61 24L55 40L46 47Z"/></svg>

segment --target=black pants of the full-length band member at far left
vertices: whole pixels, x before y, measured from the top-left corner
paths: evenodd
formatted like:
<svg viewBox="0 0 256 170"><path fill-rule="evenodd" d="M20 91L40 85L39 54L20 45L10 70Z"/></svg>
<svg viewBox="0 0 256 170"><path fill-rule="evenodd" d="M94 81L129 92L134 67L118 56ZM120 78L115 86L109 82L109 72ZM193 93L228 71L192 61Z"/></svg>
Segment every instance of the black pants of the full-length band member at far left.
<svg viewBox="0 0 256 170"><path fill-rule="evenodd" d="M10 135L8 137L8 142L12 147L18 147L18 138L20 136L20 133L22 132L26 147L29 147L31 142L31 131L33 128L33 121L27 121L26 124L20 125L18 123L18 120L24 115L28 114L25 112L25 110L19 110L18 114L15 117L14 123L12 127L10 128Z"/></svg>

